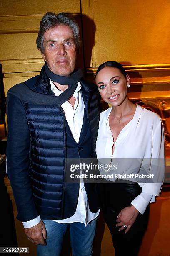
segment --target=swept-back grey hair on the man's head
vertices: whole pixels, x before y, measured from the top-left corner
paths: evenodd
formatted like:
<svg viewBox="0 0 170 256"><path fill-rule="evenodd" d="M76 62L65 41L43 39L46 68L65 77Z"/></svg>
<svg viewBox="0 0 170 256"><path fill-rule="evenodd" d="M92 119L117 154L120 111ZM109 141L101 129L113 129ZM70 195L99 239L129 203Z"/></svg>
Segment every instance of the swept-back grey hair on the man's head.
<svg viewBox="0 0 170 256"><path fill-rule="evenodd" d="M61 24L71 28L75 40L75 46L77 49L80 47L79 26L75 21L73 15L70 13L55 14L52 12L48 12L42 17L40 21L40 31L36 40L37 48L40 49L42 53L44 53L44 33L48 29Z"/></svg>

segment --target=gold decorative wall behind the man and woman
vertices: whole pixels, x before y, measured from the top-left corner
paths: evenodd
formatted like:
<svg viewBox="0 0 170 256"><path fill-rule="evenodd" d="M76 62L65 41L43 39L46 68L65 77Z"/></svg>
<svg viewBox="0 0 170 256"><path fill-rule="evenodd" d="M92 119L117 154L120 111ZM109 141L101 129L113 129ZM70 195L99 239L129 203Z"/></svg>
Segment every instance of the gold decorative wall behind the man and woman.
<svg viewBox="0 0 170 256"><path fill-rule="evenodd" d="M40 19L47 11L75 15L83 39L77 67L84 69L87 79L94 81L96 69L102 62L118 61L124 65L131 79L130 100L163 118L166 152L170 156L170 1L0 0L0 64L4 77L0 86L4 87L5 97L10 87L40 73L44 61L37 50L36 38ZM102 105L105 107L103 102ZM7 179L6 184L10 189ZM168 255L169 248L164 244L169 239L165 232L169 227L165 221L168 217L157 217L167 216L170 194L162 195L158 203L151 206L153 218L150 218L141 256L146 252L150 256ZM18 246L28 245L31 255L36 255L35 247L23 234L22 224L15 220L15 225ZM101 255L111 256L109 231L104 227L102 232L99 232L99 236L104 234L100 241ZM98 240L96 248L99 248Z"/></svg>

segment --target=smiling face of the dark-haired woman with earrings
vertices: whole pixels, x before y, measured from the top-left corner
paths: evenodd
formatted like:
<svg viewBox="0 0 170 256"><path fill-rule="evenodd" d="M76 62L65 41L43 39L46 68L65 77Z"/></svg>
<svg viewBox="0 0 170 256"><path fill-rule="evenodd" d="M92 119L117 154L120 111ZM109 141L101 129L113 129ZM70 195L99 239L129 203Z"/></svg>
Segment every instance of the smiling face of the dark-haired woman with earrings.
<svg viewBox="0 0 170 256"><path fill-rule="evenodd" d="M119 69L105 67L96 76L96 84L102 99L112 106L119 106L127 98L127 84L130 78L126 78Z"/></svg>

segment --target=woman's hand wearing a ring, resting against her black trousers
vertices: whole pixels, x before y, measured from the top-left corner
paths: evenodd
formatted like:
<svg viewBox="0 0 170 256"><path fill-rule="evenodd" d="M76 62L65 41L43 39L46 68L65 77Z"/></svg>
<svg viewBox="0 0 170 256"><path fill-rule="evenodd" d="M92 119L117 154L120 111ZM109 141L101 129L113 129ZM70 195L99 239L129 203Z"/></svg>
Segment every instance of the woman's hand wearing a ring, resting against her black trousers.
<svg viewBox="0 0 170 256"><path fill-rule="evenodd" d="M138 210L133 205L125 207L124 209L121 210L121 212L117 216L116 227L120 227L119 231L121 231L125 229L127 226L125 230L125 234L126 234L132 227L138 214L139 214Z"/></svg>

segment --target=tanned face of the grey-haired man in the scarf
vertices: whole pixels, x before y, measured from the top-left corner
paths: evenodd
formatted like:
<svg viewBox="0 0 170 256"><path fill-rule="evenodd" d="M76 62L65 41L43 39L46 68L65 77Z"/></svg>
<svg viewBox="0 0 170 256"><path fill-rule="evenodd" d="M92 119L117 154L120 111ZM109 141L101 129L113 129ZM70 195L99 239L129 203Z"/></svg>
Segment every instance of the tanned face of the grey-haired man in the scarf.
<svg viewBox="0 0 170 256"><path fill-rule="evenodd" d="M44 53L49 69L57 75L69 76L75 68L76 46L70 27L57 25L44 33Z"/></svg>

